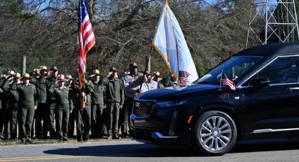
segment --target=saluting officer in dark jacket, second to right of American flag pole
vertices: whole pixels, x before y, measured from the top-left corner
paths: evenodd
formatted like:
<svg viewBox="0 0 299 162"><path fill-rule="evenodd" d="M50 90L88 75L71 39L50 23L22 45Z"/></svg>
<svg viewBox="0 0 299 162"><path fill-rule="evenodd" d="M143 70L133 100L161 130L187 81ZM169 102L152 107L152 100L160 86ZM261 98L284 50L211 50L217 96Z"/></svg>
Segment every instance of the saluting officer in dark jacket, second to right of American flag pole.
<svg viewBox="0 0 299 162"><path fill-rule="evenodd" d="M120 108L122 108L125 101L125 92L122 86L122 80L117 78L116 68L110 68L110 73L105 81L105 85L108 139L120 139L118 136L118 119Z"/></svg>

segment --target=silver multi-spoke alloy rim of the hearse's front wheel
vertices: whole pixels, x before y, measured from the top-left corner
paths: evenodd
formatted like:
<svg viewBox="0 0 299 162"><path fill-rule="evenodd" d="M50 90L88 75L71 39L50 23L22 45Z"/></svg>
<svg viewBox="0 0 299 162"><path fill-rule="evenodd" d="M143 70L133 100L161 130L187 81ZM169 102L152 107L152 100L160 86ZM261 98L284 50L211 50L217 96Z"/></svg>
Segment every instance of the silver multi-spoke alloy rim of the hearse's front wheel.
<svg viewBox="0 0 299 162"><path fill-rule="evenodd" d="M212 116L201 125L201 143L209 151L221 151L231 142L231 125L221 116Z"/></svg>

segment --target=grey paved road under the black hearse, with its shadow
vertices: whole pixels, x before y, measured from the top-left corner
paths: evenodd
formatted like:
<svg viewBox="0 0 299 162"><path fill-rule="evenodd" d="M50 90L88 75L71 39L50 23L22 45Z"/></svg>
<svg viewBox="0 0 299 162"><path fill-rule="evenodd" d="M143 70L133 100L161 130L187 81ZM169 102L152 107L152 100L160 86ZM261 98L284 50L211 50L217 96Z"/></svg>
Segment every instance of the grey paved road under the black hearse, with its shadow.
<svg viewBox="0 0 299 162"><path fill-rule="evenodd" d="M299 142L286 139L237 143L224 156L198 156L191 149L159 149L138 142L26 145L0 147L0 161L299 161Z"/></svg>

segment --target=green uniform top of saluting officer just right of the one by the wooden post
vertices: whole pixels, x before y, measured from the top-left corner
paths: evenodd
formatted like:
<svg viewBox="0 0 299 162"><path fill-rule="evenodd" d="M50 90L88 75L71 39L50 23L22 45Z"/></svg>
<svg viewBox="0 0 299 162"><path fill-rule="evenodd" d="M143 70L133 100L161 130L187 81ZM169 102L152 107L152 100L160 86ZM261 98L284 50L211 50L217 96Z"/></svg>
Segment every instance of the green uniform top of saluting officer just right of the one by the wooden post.
<svg viewBox="0 0 299 162"><path fill-rule="evenodd" d="M37 101L39 103L46 103L46 75L39 78L33 78L30 82L37 88Z"/></svg>

